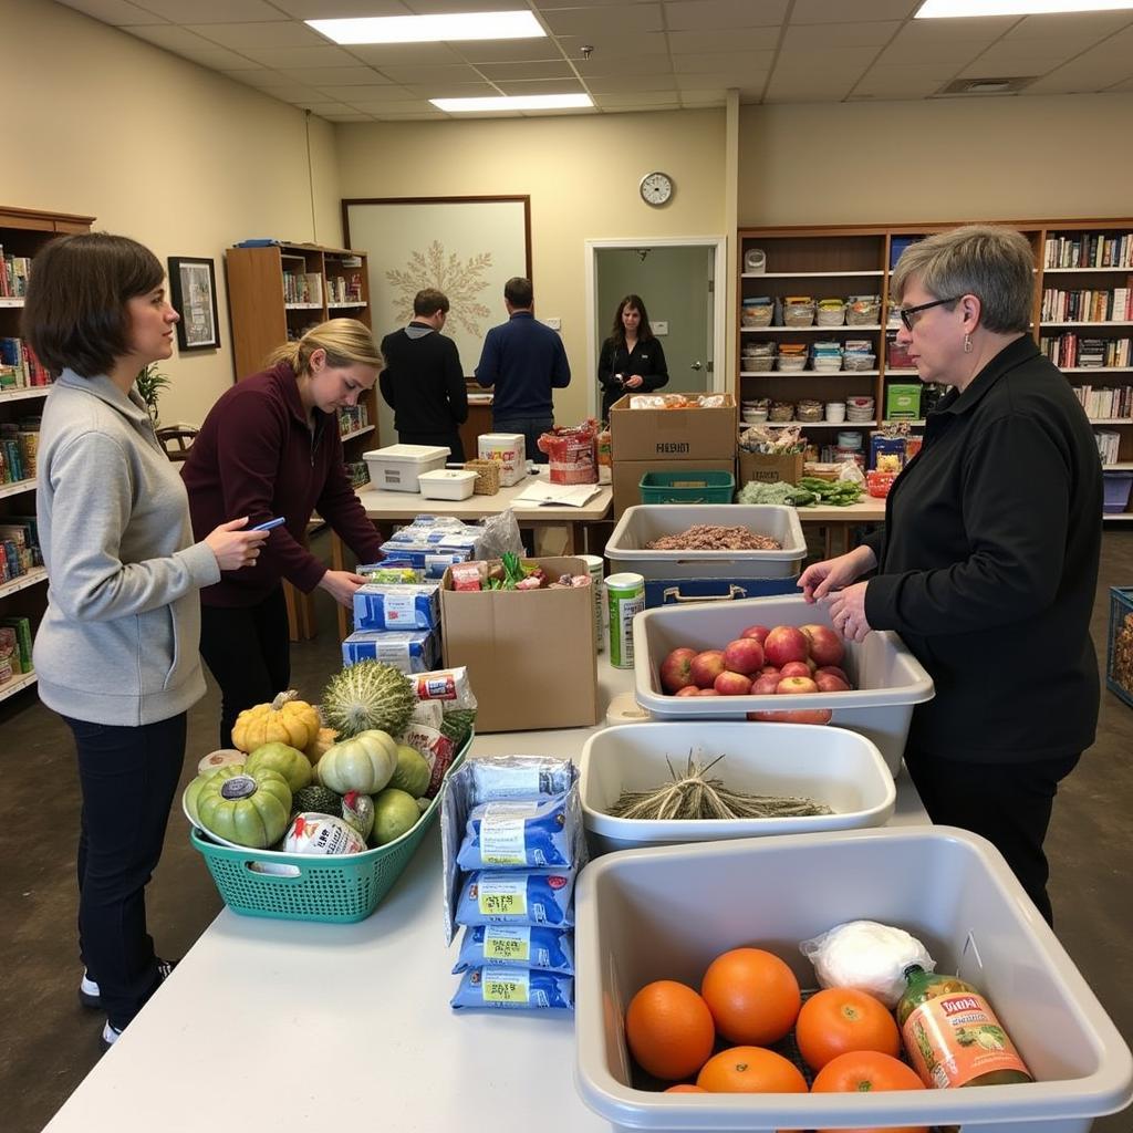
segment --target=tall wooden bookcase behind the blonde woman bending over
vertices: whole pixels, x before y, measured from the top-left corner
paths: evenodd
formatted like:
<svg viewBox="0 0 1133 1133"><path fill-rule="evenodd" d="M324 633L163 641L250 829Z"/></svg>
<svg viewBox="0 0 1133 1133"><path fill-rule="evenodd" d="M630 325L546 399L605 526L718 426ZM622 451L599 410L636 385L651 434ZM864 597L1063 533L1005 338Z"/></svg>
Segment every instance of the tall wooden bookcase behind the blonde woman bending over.
<svg viewBox="0 0 1133 1133"><path fill-rule="evenodd" d="M224 266L235 380L258 373L276 347L327 318L356 318L373 326L366 263L365 252L314 244L229 248ZM359 404L366 408L368 424L341 434L348 463L360 461L365 451L381 444L376 383ZM308 640L315 636L310 597L287 583L284 589L291 640Z"/></svg>

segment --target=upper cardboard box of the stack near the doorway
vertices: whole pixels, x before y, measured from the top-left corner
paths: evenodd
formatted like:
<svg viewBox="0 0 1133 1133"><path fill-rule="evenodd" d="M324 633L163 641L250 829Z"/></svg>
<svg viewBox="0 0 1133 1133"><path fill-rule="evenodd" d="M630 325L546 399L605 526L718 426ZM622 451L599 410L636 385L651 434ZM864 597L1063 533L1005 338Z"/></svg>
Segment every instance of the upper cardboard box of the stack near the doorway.
<svg viewBox="0 0 1133 1133"><path fill-rule="evenodd" d="M730 393L723 397L719 409L630 409L630 394L615 401L610 408L615 463L734 457L735 398Z"/></svg>

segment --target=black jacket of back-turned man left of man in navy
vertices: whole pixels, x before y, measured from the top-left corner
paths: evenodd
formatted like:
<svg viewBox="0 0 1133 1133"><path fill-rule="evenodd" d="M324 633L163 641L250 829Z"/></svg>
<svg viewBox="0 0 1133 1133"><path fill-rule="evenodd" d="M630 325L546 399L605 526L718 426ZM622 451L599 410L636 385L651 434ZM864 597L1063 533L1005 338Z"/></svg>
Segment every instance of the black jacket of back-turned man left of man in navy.
<svg viewBox="0 0 1133 1133"><path fill-rule="evenodd" d="M402 327L382 339L385 369L380 382L394 428L455 435L457 426L468 420L468 387L457 343L425 323L409 326L427 333L414 338Z"/></svg>

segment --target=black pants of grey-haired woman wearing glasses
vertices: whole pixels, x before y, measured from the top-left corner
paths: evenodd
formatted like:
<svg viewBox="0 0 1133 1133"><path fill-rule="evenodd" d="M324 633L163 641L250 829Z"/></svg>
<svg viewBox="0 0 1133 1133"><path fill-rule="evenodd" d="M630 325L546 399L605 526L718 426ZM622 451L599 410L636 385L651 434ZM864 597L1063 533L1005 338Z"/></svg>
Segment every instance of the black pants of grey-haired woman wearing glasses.
<svg viewBox="0 0 1133 1133"><path fill-rule="evenodd" d="M1080 756L1025 764L966 764L918 751L905 766L934 823L960 826L986 837L1007 860L1048 925L1054 923L1042 842L1058 783Z"/></svg>

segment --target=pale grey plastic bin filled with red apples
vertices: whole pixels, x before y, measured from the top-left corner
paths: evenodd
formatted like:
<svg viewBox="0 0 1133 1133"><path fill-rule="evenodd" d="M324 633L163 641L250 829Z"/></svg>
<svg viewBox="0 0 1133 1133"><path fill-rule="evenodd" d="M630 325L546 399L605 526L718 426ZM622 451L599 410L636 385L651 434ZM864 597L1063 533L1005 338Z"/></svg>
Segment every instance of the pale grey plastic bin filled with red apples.
<svg viewBox="0 0 1133 1133"><path fill-rule="evenodd" d="M701 509L702 510L702 509ZM608 545L607 545L608 546ZM932 678L892 630L864 641L846 641L842 664L853 690L787 696L671 697L661 688L661 663L673 649L723 649L748 625L830 625L825 605L798 597L744 598L701 606L665 606L633 619L634 687L638 702L658 719L743 719L749 712L829 708L830 723L877 744L886 766L901 769L913 705L931 700ZM832 627L833 628L833 627Z"/></svg>

